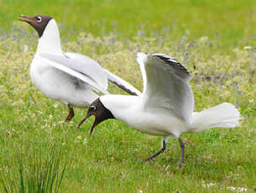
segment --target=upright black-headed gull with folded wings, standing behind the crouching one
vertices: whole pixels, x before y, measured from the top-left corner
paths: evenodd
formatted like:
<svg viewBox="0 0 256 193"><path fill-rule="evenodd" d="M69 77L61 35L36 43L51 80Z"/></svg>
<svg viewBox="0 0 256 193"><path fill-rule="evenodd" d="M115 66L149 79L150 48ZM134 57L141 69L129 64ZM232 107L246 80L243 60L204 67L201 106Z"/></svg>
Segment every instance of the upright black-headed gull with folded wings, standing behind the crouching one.
<svg viewBox="0 0 256 193"><path fill-rule="evenodd" d="M20 17L20 21L29 23L39 34L36 54L30 67L31 80L44 95L69 107L66 122L75 115L73 107L88 107L99 97L95 91L108 93L107 80L130 94L141 94L127 81L103 69L97 61L76 53L64 54L54 18L47 15Z"/></svg>

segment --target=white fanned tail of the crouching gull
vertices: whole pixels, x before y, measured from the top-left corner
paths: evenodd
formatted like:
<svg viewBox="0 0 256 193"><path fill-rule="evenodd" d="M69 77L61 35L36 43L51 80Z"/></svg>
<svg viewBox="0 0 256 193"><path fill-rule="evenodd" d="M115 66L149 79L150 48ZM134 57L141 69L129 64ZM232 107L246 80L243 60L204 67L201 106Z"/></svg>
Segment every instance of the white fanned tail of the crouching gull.
<svg viewBox="0 0 256 193"><path fill-rule="evenodd" d="M228 102L202 112L194 112L191 121L191 132L200 132L206 128L235 128L238 126L240 113Z"/></svg>

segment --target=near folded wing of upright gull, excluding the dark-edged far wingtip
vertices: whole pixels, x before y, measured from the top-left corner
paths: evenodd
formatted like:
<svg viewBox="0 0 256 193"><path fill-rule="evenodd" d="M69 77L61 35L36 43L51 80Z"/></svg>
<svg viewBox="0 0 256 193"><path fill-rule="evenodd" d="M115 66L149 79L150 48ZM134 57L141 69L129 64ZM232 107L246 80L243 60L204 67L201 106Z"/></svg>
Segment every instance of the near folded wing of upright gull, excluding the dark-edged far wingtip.
<svg viewBox="0 0 256 193"><path fill-rule="evenodd" d="M39 60L43 60L49 65L64 71L65 73L75 76L81 81L94 87L97 91L101 91L107 94L107 76L102 67L89 57L73 54L69 56L65 55L50 55L40 54L38 55Z"/></svg>

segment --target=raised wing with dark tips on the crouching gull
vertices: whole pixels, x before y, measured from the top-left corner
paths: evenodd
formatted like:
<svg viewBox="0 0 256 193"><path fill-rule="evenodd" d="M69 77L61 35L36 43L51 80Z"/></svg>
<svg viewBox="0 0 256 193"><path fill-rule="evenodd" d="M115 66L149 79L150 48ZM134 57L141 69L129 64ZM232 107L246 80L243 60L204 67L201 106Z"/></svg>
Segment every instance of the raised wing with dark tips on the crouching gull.
<svg viewBox="0 0 256 193"><path fill-rule="evenodd" d="M137 61L144 80L144 107L165 108L189 123L194 111L190 72L168 55L138 53Z"/></svg>

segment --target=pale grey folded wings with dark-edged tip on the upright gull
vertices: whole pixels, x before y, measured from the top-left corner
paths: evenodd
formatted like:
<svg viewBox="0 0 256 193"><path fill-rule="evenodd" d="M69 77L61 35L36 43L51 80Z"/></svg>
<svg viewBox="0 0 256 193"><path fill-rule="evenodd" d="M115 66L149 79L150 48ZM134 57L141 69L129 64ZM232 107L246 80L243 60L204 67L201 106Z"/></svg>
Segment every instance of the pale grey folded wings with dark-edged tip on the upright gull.
<svg viewBox="0 0 256 193"><path fill-rule="evenodd" d="M86 55L77 53L65 53L65 55L40 54L37 57L39 60L43 60L47 64L86 82L103 94L108 93L107 80L109 80L132 95L141 95L141 92L134 86L103 69L97 61Z"/></svg>

